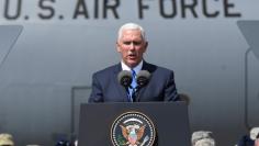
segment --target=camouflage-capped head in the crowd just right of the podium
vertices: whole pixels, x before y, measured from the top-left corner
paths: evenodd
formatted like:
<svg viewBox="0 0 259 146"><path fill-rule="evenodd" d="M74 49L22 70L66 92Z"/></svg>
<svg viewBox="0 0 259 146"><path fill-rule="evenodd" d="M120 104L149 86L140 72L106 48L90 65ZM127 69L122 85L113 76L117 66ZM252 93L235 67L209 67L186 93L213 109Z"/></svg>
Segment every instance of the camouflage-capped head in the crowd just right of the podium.
<svg viewBox="0 0 259 146"><path fill-rule="evenodd" d="M212 132L198 131L192 134L192 146L215 146Z"/></svg>

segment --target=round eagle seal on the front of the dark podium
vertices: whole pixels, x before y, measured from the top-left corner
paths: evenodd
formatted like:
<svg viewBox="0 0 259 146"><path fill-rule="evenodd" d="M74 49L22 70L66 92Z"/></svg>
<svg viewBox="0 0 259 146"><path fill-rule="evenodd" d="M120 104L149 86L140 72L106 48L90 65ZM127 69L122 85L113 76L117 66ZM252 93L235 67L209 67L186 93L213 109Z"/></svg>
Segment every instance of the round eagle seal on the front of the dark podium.
<svg viewBox="0 0 259 146"><path fill-rule="evenodd" d="M112 124L111 139L114 146L153 146L156 137L151 120L140 112L126 112Z"/></svg>

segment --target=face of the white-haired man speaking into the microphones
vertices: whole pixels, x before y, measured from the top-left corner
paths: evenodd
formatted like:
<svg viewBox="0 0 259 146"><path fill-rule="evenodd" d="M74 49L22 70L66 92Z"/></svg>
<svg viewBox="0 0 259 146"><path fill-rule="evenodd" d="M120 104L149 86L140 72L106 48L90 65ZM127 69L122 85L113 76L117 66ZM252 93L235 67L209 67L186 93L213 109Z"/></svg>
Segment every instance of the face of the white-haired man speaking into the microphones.
<svg viewBox="0 0 259 146"><path fill-rule="evenodd" d="M131 68L142 61L147 48L147 42L142 37L139 30L124 30L122 37L116 43L117 52L123 61Z"/></svg>

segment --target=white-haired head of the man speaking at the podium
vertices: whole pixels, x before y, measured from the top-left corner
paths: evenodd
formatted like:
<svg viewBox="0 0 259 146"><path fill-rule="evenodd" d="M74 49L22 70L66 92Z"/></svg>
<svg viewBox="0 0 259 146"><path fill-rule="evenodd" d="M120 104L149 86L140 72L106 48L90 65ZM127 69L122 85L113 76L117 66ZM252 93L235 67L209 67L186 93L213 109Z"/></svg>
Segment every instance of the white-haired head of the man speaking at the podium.
<svg viewBox="0 0 259 146"><path fill-rule="evenodd" d="M116 49L122 60L131 68L137 66L147 49L147 40L144 29L135 23L122 25L117 32Z"/></svg>

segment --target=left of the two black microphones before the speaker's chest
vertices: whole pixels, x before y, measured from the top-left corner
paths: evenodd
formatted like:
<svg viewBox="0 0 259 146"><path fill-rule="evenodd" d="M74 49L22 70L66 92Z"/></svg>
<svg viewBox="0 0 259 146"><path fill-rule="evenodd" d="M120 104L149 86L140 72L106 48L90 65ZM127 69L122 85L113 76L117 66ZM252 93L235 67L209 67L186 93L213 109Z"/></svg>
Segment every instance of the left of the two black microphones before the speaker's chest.
<svg viewBox="0 0 259 146"><path fill-rule="evenodd" d="M132 72L127 70L122 70L117 75L117 80L123 87L128 88L132 83Z"/></svg>

